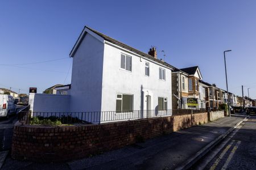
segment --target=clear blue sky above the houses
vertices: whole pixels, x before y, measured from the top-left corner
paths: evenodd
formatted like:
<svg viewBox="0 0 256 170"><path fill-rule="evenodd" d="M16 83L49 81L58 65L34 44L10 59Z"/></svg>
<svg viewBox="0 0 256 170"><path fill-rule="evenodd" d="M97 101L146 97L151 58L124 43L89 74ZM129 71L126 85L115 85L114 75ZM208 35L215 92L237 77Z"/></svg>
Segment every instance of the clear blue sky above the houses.
<svg viewBox="0 0 256 170"><path fill-rule="evenodd" d="M179 68L199 65L203 79L256 98L256 1L0 2L0 87L42 92L71 82L69 52L84 25L147 52L151 45ZM3 66L48 61L31 65ZM69 74L68 74L69 72ZM68 76L67 76L68 75ZM66 79L67 77L67 79ZM66 79L66 80L65 80ZM64 82L65 81L65 82Z"/></svg>

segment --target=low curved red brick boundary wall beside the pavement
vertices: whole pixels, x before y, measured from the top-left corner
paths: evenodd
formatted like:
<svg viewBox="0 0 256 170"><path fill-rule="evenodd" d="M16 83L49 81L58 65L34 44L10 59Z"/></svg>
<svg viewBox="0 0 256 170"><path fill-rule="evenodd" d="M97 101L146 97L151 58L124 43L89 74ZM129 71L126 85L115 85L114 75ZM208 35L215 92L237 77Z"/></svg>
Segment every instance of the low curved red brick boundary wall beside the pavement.
<svg viewBox="0 0 256 170"><path fill-rule="evenodd" d="M207 122L207 113L192 116L192 124ZM35 162L65 162L131 145L191 127L191 114L81 126L14 126L11 156Z"/></svg>

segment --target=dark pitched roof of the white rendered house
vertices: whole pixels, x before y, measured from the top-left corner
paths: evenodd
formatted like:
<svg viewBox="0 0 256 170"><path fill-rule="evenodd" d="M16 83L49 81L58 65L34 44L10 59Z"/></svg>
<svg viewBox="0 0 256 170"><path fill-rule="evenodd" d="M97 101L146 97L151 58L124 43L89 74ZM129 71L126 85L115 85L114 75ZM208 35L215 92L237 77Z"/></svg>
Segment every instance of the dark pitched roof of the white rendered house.
<svg viewBox="0 0 256 170"><path fill-rule="evenodd" d="M113 39L112 37L106 36L106 35L104 35L103 33L98 32L98 31L96 31L96 30L94 30L94 29L92 29L92 28L90 28L90 27L85 26L84 29L83 29L83 31L82 31L82 33L84 32L84 30L85 30L86 28L89 29L90 31L96 33L98 36L102 37L102 38L103 38L104 40L106 40L106 41L112 42L113 44L116 44L116 45L118 45L118 46L121 46L122 48L128 49L128 50L130 50L130 51L132 51L132 52L134 52L134 53L139 54L140 56L150 58L150 59L153 60L153 61L156 61L156 62L158 62L158 63L161 63L161 64L164 65L164 66L167 66L167 67L170 67L171 69L174 69L174 66L168 64L167 62L164 62L164 61L162 61L162 60L160 60L160 59L158 59L158 58L154 58L154 57L150 56L149 54L143 53L143 52L141 52L140 50L137 50L137 49L135 49L135 48L133 48L133 47L131 47L131 46L129 46L129 45L126 45L126 44L124 44L124 43L122 43L122 42L120 42L120 41L117 41L117 40ZM79 39L77 39L77 41L76 41L77 46L76 46L76 44L75 44L75 45L73 46L73 49L71 50L71 53L69 53L69 56L70 56L70 57L73 57L73 55L75 54L75 53L74 53L74 54L72 54L72 53L73 53L73 52L76 52L76 50L77 50L79 44L81 43L81 42L79 42L79 41L82 41L82 39L84 39L84 35L82 35L82 33L80 34ZM81 37L81 39L80 39L80 37Z"/></svg>

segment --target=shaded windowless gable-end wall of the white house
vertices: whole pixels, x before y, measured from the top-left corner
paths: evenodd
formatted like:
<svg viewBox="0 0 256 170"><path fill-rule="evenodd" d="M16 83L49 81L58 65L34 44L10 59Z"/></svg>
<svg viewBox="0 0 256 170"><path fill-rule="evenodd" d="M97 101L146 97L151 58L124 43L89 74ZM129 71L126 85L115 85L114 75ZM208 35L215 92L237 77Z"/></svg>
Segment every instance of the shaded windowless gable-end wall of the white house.
<svg viewBox="0 0 256 170"><path fill-rule="evenodd" d="M103 42L87 33L73 56L72 112L101 111Z"/></svg>

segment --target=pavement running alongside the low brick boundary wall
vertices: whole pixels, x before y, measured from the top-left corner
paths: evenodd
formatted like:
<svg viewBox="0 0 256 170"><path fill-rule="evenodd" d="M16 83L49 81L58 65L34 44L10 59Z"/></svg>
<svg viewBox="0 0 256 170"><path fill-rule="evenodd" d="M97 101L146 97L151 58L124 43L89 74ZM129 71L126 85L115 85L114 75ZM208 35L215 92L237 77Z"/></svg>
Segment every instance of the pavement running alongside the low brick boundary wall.
<svg viewBox="0 0 256 170"><path fill-rule="evenodd" d="M2 169L175 169L245 116L225 117L119 150L69 163L38 164L7 157Z"/></svg>

